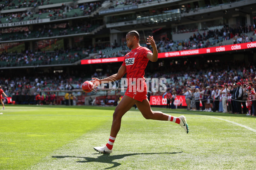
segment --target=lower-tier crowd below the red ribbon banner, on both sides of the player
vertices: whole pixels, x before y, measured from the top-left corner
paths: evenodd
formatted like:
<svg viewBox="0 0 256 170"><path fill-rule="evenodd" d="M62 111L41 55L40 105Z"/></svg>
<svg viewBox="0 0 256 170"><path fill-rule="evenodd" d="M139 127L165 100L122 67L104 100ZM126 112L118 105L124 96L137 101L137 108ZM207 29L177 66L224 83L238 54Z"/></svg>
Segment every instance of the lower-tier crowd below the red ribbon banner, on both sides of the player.
<svg viewBox="0 0 256 170"><path fill-rule="evenodd" d="M161 67L161 65L159 65ZM189 63L173 64L166 72L145 74L148 78L166 78L167 91L175 95L185 95L189 110L219 111L228 113L247 113L245 108L252 106L252 115L256 112L256 67L234 62L232 66L215 62L204 65L197 70ZM107 71L106 71L107 72ZM92 77L109 76L108 73L96 72ZM85 77L85 75L81 75ZM44 77L1 77L0 85L8 96L37 95L41 90L73 90L80 89L81 77L67 76L63 73L49 74ZM148 87L151 89L151 86ZM50 92L49 94L50 95ZM151 95L164 95L152 92ZM202 107L198 105L200 102ZM243 105L243 109L240 107ZM255 108L255 109L254 109Z"/></svg>

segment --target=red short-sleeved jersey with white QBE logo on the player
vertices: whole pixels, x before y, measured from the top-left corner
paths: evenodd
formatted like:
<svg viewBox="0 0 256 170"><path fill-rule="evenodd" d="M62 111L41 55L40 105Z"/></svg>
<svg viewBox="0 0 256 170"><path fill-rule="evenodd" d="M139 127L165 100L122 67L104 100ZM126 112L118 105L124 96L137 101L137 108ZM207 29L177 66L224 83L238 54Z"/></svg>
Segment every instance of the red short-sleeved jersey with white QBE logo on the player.
<svg viewBox="0 0 256 170"><path fill-rule="evenodd" d="M142 78L142 85L145 83L145 68L148 64L147 54L152 53L148 48L139 46L125 55L122 65L126 67L126 78L128 88L130 85L137 85L137 79ZM136 85L134 87L136 87ZM136 87L137 88L137 87ZM134 88L133 88L134 89Z"/></svg>

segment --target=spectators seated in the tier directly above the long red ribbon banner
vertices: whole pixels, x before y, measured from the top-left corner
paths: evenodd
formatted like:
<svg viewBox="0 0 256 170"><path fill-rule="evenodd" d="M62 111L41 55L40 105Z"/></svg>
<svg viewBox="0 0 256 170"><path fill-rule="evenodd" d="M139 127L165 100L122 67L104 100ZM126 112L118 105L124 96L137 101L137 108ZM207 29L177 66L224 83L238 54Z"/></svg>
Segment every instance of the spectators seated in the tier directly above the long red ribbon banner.
<svg viewBox="0 0 256 170"><path fill-rule="evenodd" d="M152 34L152 33L150 33ZM207 48L211 46L215 46L216 43L222 45L221 41L232 40L234 44L243 43L243 42L253 42L253 36L256 35L255 26L240 26L237 28L224 26L220 30L208 30L204 31L203 34L192 33L190 37L186 40L173 41L169 38L162 38L156 41L158 52L168 52L168 51L181 51L181 50L189 50L196 48ZM250 36L250 37L249 37ZM156 37L156 36L155 36ZM146 46L150 49L149 45L146 45L144 40L141 39L141 45ZM105 54L102 52L105 48L110 48L113 50L114 48L119 48L119 51L112 53L111 55ZM97 48L99 50L92 49L94 53L97 51L98 54L93 55L90 59L99 59L99 58L110 58L110 57L121 57L127 54L129 49L127 48L125 42L122 45L111 44L105 45Z"/></svg>

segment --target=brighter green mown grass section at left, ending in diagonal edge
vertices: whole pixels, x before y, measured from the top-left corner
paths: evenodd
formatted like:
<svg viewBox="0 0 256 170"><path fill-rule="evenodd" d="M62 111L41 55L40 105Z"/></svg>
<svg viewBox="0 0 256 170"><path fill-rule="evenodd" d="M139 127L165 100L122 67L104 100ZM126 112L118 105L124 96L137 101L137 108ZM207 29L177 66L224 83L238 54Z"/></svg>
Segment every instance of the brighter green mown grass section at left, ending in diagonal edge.
<svg viewBox="0 0 256 170"><path fill-rule="evenodd" d="M25 169L97 127L105 121L105 113L111 119L112 111L98 110L97 118L94 111L97 110L8 107L0 117L0 169Z"/></svg>

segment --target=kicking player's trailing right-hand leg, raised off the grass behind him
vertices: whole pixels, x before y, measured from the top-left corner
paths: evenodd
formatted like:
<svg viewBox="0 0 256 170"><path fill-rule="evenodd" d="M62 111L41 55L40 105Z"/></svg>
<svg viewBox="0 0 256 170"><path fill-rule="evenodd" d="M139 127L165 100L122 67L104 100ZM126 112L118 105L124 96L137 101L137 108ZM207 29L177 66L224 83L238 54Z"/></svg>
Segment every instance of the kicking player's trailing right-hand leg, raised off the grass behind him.
<svg viewBox="0 0 256 170"><path fill-rule="evenodd" d="M150 104L148 102L148 99L143 100L142 102L137 101L136 105L140 112L142 113L143 117L145 119L153 119L153 120L163 120L163 121L171 121L179 124L181 127L184 128L186 133L189 133L189 128L186 123L186 117L185 116L180 116L180 117L175 117L168 115L166 113L160 112L160 111L152 111Z"/></svg>

